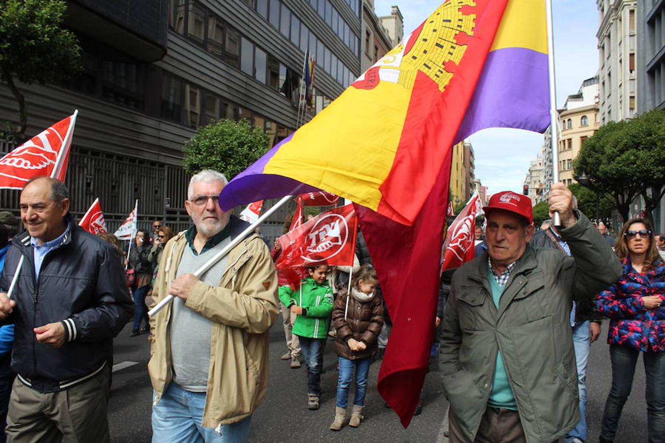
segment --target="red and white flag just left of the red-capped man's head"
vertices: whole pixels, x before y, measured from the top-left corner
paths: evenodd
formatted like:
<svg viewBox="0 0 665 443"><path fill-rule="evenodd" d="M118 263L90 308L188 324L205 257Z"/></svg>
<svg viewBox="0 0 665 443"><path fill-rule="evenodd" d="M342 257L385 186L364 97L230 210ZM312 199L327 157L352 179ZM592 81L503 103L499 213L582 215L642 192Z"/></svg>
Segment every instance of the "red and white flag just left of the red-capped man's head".
<svg viewBox="0 0 665 443"><path fill-rule="evenodd" d="M462 264L473 260L475 236L475 217L482 211L480 199L473 194L466 207L450 224L446 240L444 240L444 264L442 270L459 268Z"/></svg>

